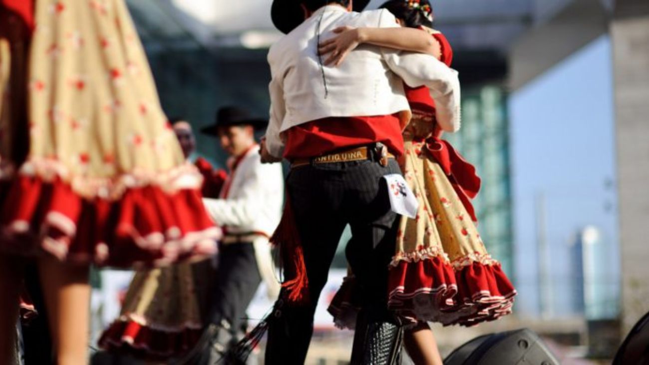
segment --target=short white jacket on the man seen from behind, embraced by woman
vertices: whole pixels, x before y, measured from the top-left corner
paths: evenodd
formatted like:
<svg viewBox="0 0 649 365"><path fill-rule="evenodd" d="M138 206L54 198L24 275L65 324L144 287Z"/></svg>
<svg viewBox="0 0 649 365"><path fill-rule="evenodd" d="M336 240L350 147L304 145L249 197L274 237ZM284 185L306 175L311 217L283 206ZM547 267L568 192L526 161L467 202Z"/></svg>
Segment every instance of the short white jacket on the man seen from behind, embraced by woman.
<svg viewBox="0 0 649 365"><path fill-rule="evenodd" d="M324 66L317 42L335 36L332 30L344 25L398 27L385 9L357 13L328 5L271 47L271 110L266 131L271 155L284 153L284 131L309 121L398 112L402 122L407 121L410 107L403 82L411 87L428 86L441 128L459 129L458 73L431 55L360 45L340 66Z"/></svg>

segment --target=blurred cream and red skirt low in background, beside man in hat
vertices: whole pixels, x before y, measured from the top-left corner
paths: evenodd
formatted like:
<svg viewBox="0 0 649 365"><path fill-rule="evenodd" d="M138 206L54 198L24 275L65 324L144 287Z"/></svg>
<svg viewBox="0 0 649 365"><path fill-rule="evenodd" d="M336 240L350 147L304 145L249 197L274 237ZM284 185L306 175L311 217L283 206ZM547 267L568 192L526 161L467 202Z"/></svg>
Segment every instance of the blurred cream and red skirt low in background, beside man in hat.
<svg viewBox="0 0 649 365"><path fill-rule="evenodd" d="M99 346L149 361L182 357L201 338L212 277L212 260L137 271Z"/></svg>

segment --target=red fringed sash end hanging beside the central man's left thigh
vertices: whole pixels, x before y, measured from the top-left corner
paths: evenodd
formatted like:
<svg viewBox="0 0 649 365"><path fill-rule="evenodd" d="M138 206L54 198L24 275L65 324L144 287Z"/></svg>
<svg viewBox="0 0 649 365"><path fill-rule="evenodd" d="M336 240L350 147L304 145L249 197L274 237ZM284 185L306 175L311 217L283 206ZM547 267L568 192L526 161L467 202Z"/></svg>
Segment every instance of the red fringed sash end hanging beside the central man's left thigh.
<svg viewBox="0 0 649 365"><path fill-rule="evenodd" d="M271 237L271 243L280 247L284 275L291 278L282 283L282 287L286 288L286 300L291 304L306 305L309 302L309 279L306 277L304 251L288 196L286 194L282 220Z"/></svg>

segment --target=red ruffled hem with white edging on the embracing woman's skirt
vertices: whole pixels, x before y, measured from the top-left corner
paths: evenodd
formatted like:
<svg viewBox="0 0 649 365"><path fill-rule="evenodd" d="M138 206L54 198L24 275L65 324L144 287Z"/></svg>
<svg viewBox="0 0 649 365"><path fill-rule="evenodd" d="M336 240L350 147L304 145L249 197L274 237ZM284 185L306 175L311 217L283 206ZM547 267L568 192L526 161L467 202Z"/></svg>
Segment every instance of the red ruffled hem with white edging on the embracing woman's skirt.
<svg viewBox="0 0 649 365"><path fill-rule="evenodd" d="M511 313L514 286L497 262L459 269L441 257L390 268L389 307L415 321L471 326Z"/></svg>

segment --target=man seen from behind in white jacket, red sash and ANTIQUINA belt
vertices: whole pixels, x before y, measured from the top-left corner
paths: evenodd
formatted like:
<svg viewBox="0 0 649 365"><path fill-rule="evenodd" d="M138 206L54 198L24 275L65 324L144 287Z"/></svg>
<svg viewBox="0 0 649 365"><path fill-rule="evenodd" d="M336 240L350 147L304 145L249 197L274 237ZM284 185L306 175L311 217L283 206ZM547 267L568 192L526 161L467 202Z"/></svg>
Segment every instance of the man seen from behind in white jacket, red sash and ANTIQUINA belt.
<svg viewBox="0 0 649 365"><path fill-rule="evenodd" d="M394 360L399 325L387 311L386 283L397 214L382 178L400 173L395 156L404 151L401 131L411 115L403 82L428 86L439 125L459 128L458 75L432 56L361 45L339 67L324 65L318 44L337 27L398 27L387 10L350 12L365 4L274 0L271 8L273 23L287 34L268 55L271 118L261 153L263 162L291 162L292 211L275 233L286 281L268 320L267 364L304 362L315 303L347 224L347 260L365 301L352 363Z"/></svg>

